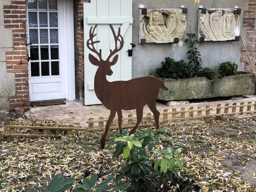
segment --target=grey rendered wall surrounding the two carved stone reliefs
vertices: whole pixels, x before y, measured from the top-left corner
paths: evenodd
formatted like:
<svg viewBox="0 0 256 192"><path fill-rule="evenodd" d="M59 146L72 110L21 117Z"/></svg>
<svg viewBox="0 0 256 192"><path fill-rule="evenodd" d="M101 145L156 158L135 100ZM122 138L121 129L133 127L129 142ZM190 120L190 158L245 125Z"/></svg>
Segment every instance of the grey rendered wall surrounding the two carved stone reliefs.
<svg viewBox="0 0 256 192"><path fill-rule="evenodd" d="M245 30L242 29L243 11L248 8L248 0L201 0L200 5L194 6L194 0L133 0L133 78L147 76L156 68L161 66L161 61L165 57L171 57L175 60L184 59L188 61L186 52L189 50L188 44L184 42L187 38L186 33L197 34L198 10L199 6L204 8L234 8L238 6L242 9L240 14L240 34L245 36ZM179 44L146 44L138 45L139 35L139 8L188 8L186 14L187 28ZM218 69L218 63L224 61L233 61L239 65L239 70L243 71L244 66L240 64L240 51L242 41L208 41L197 45L202 55L202 67L208 67L213 70Z"/></svg>

